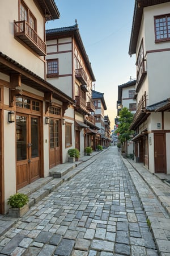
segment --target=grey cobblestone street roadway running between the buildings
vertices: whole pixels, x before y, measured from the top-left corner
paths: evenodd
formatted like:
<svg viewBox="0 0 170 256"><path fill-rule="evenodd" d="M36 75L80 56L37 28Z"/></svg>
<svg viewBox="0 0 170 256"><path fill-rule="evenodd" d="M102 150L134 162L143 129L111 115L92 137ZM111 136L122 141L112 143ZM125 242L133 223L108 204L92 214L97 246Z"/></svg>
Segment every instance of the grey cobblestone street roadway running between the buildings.
<svg viewBox="0 0 170 256"><path fill-rule="evenodd" d="M0 238L0 255L159 255L117 147L31 207Z"/></svg>

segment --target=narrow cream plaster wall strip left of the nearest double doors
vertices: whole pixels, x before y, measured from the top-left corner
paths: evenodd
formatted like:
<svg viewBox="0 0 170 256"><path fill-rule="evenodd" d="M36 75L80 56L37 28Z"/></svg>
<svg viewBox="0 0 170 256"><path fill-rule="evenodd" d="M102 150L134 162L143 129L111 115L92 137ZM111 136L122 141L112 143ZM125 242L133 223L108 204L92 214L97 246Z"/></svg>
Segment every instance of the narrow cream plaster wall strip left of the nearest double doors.
<svg viewBox="0 0 170 256"><path fill-rule="evenodd" d="M15 172L15 123L8 123L8 111L4 111L4 178L5 212L8 210L7 199L16 193Z"/></svg>

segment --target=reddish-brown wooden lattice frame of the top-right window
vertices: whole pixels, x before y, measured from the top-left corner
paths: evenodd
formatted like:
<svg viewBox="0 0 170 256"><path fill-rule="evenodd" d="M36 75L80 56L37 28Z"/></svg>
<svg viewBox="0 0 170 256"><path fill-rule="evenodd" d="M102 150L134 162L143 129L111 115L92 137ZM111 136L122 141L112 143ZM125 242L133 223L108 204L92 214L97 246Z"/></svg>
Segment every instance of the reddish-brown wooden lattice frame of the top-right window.
<svg viewBox="0 0 170 256"><path fill-rule="evenodd" d="M158 19L165 19L165 20L163 22L160 22L160 21L156 22L156 20ZM164 25L162 24L162 26L156 26L156 24L160 24L160 23L165 23L165 24ZM154 16L154 26L155 26L155 43L170 41L170 14ZM156 31L157 28L161 28L161 27L163 28L162 30ZM168 30L169 30L169 33L168 33ZM160 36L165 35L164 32L166 32L167 38L157 38L158 32L163 32L163 34L160 34Z"/></svg>

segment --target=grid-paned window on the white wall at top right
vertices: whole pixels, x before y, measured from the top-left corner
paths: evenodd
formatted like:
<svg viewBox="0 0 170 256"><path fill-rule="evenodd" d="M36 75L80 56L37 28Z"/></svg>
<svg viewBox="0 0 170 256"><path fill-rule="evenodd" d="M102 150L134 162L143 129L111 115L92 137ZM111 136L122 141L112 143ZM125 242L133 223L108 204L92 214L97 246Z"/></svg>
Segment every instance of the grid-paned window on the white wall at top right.
<svg viewBox="0 0 170 256"><path fill-rule="evenodd" d="M170 40L170 14L156 16L155 21L155 42Z"/></svg>

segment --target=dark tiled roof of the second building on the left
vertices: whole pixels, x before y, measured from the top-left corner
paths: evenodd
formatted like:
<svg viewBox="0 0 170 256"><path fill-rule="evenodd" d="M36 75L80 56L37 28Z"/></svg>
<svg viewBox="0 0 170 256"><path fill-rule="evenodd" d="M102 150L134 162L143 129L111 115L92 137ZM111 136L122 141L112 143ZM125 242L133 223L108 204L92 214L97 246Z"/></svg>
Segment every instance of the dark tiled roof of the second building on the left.
<svg viewBox="0 0 170 256"><path fill-rule="evenodd" d="M82 53L82 56L84 58L84 61L87 65L88 71L90 72L92 81L96 81L94 73L92 71L91 63L88 59L86 50L84 48L82 38L79 33L78 24L75 23L73 26L70 27L61 27L61 28L53 28L50 30L46 30L46 41L47 40L53 40L56 38L63 38L68 36L74 36L76 43L79 46L80 52Z"/></svg>

